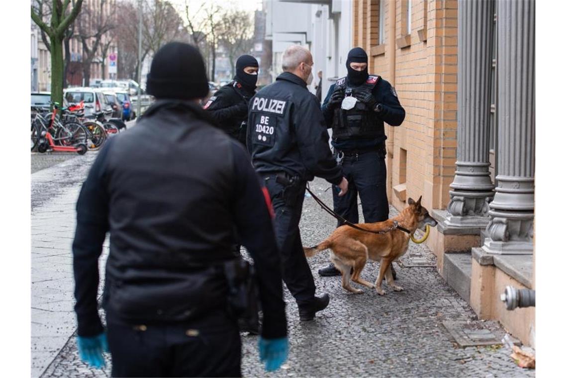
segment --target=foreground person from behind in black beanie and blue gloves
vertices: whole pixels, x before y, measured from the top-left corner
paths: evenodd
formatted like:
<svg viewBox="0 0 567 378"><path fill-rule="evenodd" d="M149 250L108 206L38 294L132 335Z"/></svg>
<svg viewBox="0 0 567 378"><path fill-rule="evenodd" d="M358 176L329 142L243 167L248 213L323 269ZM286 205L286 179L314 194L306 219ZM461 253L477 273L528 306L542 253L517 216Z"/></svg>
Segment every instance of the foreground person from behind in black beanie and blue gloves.
<svg viewBox="0 0 567 378"><path fill-rule="evenodd" d="M79 354L101 367L108 347L112 376L240 376L225 274L236 227L259 272L260 357L266 369L277 369L287 356L287 331L269 197L248 153L198 105L209 87L196 48L163 46L147 76L155 103L136 128L105 144L77 202ZM107 232L108 340L97 309Z"/></svg>

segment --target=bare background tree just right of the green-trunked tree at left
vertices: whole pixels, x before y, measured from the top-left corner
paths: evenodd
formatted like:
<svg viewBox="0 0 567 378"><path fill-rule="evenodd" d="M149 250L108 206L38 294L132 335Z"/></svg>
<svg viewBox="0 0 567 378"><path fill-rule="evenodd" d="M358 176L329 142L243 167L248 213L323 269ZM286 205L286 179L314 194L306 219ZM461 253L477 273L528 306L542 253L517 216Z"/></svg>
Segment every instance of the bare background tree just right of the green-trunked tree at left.
<svg viewBox="0 0 567 378"><path fill-rule="evenodd" d="M105 14L104 6L108 0L100 0L99 7L87 7L77 20L78 34L83 46L83 80L88 86L91 79L91 64L99 52L103 36L116 27L114 14ZM104 57L103 57L104 59Z"/></svg>

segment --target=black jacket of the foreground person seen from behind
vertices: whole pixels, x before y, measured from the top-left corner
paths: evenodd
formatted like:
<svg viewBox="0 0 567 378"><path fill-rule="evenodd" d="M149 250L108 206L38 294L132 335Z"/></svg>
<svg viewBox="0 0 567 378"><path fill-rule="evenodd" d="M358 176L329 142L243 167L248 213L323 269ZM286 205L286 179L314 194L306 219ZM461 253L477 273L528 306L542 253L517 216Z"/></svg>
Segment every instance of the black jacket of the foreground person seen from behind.
<svg viewBox="0 0 567 378"><path fill-rule="evenodd" d="M189 320L226 306L219 265L234 228L259 272L263 335L286 335L280 257L247 152L187 101L157 101L110 139L77 201L78 334L98 334L98 257L110 232L103 305L126 319Z"/></svg>

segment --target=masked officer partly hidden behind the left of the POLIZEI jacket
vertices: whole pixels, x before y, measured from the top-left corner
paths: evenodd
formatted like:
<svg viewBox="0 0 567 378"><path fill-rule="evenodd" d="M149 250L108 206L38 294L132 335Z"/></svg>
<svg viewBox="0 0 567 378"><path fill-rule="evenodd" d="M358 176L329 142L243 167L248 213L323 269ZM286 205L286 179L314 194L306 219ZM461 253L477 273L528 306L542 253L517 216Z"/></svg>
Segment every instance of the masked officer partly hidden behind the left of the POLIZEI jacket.
<svg viewBox="0 0 567 378"><path fill-rule="evenodd" d="M256 93L258 61L250 55L236 60L234 79L219 89L206 102L208 110L219 126L232 138L246 146L248 101Z"/></svg>

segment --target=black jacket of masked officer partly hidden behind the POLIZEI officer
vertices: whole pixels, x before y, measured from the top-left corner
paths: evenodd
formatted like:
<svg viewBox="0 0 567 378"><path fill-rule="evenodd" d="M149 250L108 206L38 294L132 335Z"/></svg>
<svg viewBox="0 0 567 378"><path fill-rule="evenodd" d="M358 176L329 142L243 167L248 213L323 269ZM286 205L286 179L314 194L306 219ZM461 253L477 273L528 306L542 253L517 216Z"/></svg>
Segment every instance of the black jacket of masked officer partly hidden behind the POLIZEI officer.
<svg viewBox="0 0 567 378"><path fill-rule="evenodd" d="M215 92L203 109L210 112L225 133L246 145L248 101L253 95L254 92L246 90L242 84L232 80Z"/></svg>

